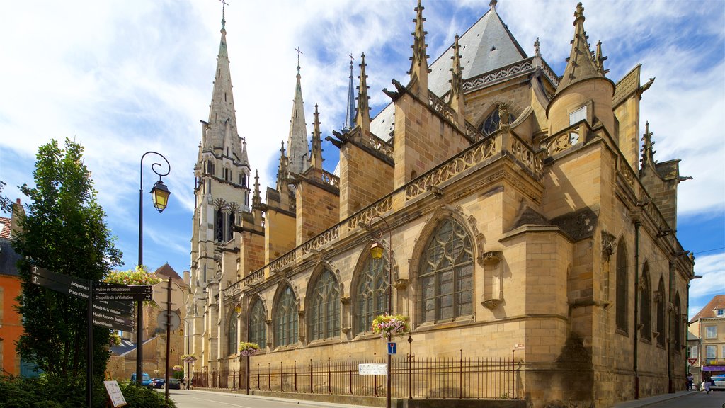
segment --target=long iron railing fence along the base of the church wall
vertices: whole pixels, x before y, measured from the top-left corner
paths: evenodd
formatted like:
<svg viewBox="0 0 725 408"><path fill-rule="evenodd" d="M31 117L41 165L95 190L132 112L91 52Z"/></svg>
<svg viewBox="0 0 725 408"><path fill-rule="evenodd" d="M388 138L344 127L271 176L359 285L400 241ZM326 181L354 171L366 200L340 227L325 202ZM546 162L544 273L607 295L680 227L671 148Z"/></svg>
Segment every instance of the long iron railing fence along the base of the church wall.
<svg viewBox="0 0 725 408"><path fill-rule="evenodd" d="M387 357L369 360L267 362L250 359L249 388L260 391L386 396L385 375L360 375L358 364L386 364ZM513 359L394 358L393 398L517 399L517 365ZM239 370L194 372L191 385L203 388L246 388ZM240 385L244 384L244 385Z"/></svg>

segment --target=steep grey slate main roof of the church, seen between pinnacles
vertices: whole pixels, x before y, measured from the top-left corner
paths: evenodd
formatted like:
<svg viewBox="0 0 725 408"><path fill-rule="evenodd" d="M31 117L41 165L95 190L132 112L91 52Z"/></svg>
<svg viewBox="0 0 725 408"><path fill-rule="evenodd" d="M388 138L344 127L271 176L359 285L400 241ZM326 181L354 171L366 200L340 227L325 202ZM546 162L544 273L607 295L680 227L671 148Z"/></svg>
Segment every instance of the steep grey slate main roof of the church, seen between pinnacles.
<svg viewBox="0 0 725 408"><path fill-rule="evenodd" d="M499 17L496 7L489 9L483 17L471 25L471 28L460 36L458 44L464 80L527 58L526 52ZM450 90L448 81L451 78L449 69L452 67L452 56L453 41L430 65L428 89L439 97ZM370 123L370 131L386 141L390 139L394 129L394 110L392 103L387 105Z"/></svg>

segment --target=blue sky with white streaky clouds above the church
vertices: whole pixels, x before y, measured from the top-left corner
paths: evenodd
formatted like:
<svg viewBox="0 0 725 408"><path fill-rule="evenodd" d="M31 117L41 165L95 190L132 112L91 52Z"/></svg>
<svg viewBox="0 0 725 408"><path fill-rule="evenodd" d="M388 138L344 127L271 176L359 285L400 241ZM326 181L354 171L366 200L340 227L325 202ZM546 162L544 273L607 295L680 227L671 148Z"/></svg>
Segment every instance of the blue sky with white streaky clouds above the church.
<svg viewBox="0 0 725 408"><path fill-rule="evenodd" d="M349 54L368 63L370 106L406 71L414 0L227 0L225 20L239 134L252 171L274 184L279 146L289 134L297 66L308 134L319 104L329 136L344 122ZM489 0L423 2L429 62L489 10ZM500 0L497 12L529 56L539 38L544 60L563 73L573 38L576 1ZM25 200L38 146L70 138L86 148L107 224L124 268L138 260L138 189L144 190L144 264L188 269L193 167L201 124L209 115L219 49L218 0L11 1L0 14L0 180L3 194ZM725 293L725 1L585 1L592 46L602 41L608 78L642 64L642 83L656 78L641 102L654 132L655 159L682 159L677 232L695 254L689 314ZM323 142L324 166L339 152ZM170 162L172 192L163 213L146 194L154 183L151 155ZM263 197L262 197L263 198Z"/></svg>

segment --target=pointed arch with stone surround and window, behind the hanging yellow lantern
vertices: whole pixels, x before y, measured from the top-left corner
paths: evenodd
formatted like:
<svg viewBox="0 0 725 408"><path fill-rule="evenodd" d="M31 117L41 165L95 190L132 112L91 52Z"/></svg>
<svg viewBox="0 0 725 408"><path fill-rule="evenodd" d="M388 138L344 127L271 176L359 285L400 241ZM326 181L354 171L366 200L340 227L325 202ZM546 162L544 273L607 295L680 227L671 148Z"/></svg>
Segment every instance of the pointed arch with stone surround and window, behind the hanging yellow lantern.
<svg viewBox="0 0 725 408"><path fill-rule="evenodd" d="M383 258L374 260L368 250L370 245L371 242L363 245L350 286L355 335L372 330L373 319L384 314L388 308L388 251L383 251Z"/></svg>

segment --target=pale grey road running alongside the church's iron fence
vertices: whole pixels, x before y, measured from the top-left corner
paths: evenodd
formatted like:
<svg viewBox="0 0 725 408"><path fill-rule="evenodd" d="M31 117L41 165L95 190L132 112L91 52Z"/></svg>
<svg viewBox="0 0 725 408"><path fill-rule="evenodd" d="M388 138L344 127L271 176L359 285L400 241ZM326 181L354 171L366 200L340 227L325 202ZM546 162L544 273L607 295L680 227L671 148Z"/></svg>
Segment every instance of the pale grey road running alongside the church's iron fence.
<svg viewBox="0 0 725 408"><path fill-rule="evenodd" d="M176 402L178 408L368 408L347 404L197 390L169 390L169 398Z"/></svg>

